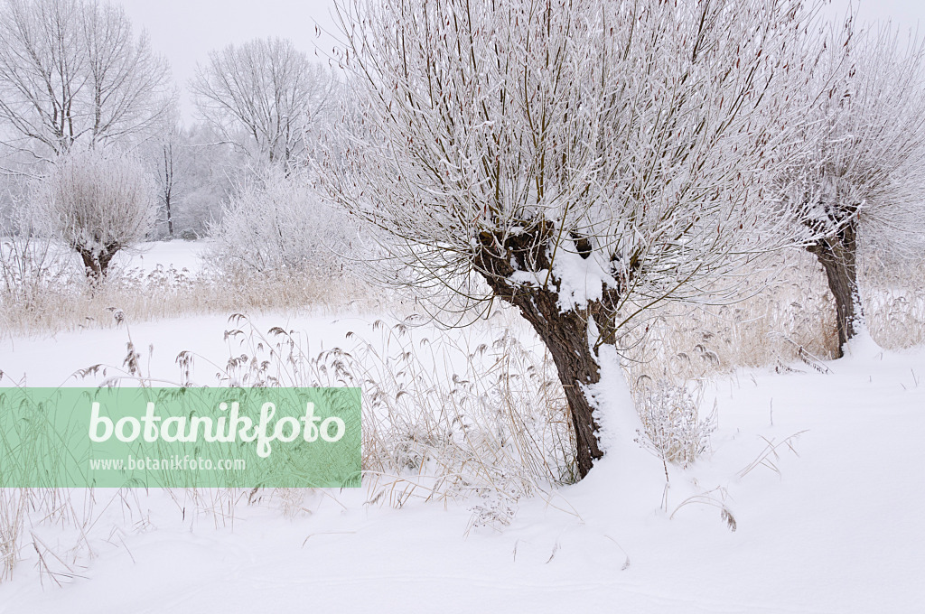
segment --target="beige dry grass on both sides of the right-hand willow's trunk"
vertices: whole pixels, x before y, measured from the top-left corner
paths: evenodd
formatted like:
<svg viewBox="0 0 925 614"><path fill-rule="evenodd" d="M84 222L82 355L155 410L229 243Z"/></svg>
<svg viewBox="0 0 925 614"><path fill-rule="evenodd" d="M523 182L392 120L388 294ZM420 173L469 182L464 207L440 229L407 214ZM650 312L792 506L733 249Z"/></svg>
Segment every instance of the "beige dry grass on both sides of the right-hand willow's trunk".
<svg viewBox="0 0 925 614"><path fill-rule="evenodd" d="M875 341L888 350L925 341L925 263L888 267L869 257L858 277ZM622 339L635 396L642 393L640 382L694 382L740 367L785 371L793 362L820 368L820 361L833 358L834 302L812 256L786 254L775 281L757 290L731 305L654 308L648 327Z"/></svg>

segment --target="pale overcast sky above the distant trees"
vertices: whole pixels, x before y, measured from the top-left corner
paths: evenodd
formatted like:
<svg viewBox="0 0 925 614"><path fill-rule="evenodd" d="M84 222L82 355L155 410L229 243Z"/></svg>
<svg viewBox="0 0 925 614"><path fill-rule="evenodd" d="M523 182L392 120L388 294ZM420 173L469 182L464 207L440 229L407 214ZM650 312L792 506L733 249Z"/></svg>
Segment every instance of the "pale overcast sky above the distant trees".
<svg viewBox="0 0 925 614"><path fill-rule="evenodd" d="M116 0L117 2L119 0ZM334 0L121 0L137 29L145 29L154 48L170 60L174 76L185 90L197 62L228 43L280 36L319 59L329 54L331 38L315 33L315 24L336 31ZM853 3L857 6L857 1ZM861 0L858 18L892 20L904 29L925 24L925 0ZM833 0L828 8L844 14L849 0ZM320 49L318 49L320 47ZM191 103L182 93L182 108L191 116Z"/></svg>

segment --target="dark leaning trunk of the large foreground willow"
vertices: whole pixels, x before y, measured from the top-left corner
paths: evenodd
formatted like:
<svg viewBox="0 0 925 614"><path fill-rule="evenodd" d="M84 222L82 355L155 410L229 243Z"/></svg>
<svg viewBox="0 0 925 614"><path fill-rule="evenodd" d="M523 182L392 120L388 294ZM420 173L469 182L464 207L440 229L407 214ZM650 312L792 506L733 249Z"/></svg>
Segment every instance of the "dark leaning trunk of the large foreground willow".
<svg viewBox="0 0 925 614"><path fill-rule="evenodd" d="M504 239L504 245L494 240L495 235L482 233L479 239L483 250L475 264L495 296L520 310L552 355L571 413L578 475L584 478L594 461L603 456L594 407L586 396L586 386L600 381L598 358L587 337L589 314L587 310L561 311L554 285L548 289L523 287L508 279L514 271L512 259L519 264L520 270L549 270L542 247L546 230L541 224L523 235Z"/></svg>

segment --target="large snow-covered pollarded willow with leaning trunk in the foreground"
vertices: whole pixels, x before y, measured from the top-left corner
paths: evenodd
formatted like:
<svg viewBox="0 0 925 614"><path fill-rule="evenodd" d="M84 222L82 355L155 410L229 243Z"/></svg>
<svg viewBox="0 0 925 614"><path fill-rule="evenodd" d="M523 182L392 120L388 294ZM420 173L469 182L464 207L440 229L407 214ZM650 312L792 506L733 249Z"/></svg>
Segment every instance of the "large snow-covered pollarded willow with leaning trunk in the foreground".
<svg viewBox="0 0 925 614"><path fill-rule="evenodd" d="M812 12L361 0L339 13L363 106L348 164L322 184L384 230L413 286L520 310L558 369L585 476L602 455L594 385L622 327L723 276L729 288L789 240L759 179L776 169Z"/></svg>

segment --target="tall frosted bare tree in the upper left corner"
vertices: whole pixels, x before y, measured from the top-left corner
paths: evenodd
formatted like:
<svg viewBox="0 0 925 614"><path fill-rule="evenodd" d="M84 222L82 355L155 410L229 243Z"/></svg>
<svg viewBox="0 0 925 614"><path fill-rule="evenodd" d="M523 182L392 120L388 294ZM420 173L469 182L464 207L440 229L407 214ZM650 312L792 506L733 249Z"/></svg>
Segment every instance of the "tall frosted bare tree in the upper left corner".
<svg viewBox="0 0 925 614"><path fill-rule="evenodd" d="M120 6L0 5L0 142L39 160L150 133L172 104L166 61Z"/></svg>

